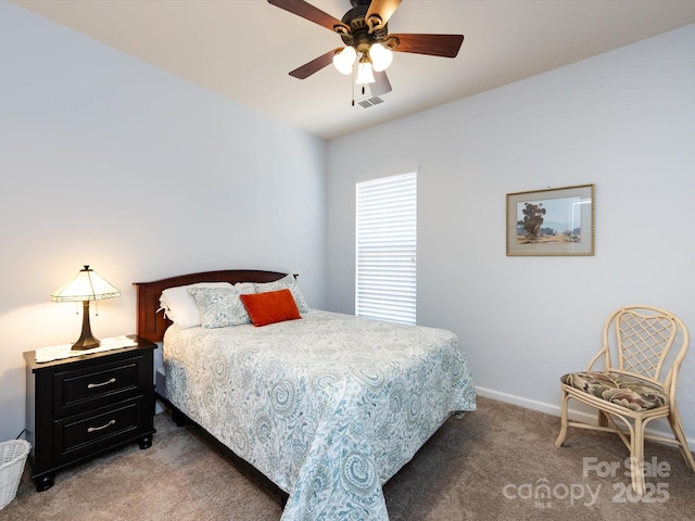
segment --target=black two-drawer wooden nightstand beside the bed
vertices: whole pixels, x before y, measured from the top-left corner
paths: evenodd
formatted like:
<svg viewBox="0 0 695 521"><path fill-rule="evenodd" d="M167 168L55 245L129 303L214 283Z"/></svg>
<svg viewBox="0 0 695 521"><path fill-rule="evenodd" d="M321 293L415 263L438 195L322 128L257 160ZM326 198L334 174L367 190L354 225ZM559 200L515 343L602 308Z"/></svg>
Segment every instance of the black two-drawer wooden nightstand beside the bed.
<svg viewBox="0 0 695 521"><path fill-rule="evenodd" d="M37 492L53 486L55 471L127 443L152 445L153 350L137 345L38 364L24 353L28 461Z"/></svg>

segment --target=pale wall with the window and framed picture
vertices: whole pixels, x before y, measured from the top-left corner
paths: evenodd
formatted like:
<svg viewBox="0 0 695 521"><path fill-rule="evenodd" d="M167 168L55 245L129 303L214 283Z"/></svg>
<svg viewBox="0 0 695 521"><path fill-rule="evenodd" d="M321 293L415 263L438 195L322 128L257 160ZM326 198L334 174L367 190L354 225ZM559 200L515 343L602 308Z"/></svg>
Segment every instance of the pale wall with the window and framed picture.
<svg viewBox="0 0 695 521"><path fill-rule="evenodd" d="M414 164L418 322L459 335L483 393L558 412L621 305L695 334L695 25L331 141L330 308L354 312L355 181ZM506 193L585 183L595 256L506 256ZM678 396L695 439L695 346Z"/></svg>

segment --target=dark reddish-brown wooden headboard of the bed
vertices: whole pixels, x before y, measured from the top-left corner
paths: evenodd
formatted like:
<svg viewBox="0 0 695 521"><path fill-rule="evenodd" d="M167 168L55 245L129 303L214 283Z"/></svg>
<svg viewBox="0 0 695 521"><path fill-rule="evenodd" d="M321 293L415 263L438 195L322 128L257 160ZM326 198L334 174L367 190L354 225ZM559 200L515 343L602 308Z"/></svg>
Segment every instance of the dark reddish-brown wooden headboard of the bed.
<svg viewBox="0 0 695 521"><path fill-rule="evenodd" d="M195 282L273 282L287 274L279 271L264 271L261 269L226 269L220 271L203 271L201 274L179 275L153 282L134 282L138 295L137 329L138 335L152 342L161 342L164 331L170 323L164 318L160 308L162 291L177 285L194 284Z"/></svg>

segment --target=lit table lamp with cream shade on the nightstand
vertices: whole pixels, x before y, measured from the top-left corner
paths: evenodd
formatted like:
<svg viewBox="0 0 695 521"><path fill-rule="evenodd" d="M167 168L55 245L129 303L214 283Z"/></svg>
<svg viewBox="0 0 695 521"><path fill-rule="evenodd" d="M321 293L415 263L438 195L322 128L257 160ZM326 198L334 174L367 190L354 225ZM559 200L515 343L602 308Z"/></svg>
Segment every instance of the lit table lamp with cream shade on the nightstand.
<svg viewBox="0 0 695 521"><path fill-rule="evenodd" d="M83 302L83 333L79 340L73 344L73 351L91 350L99 347L101 342L91 334L89 326L89 301L115 298L121 292L101 278L88 265L70 280L60 290L53 292L53 302Z"/></svg>

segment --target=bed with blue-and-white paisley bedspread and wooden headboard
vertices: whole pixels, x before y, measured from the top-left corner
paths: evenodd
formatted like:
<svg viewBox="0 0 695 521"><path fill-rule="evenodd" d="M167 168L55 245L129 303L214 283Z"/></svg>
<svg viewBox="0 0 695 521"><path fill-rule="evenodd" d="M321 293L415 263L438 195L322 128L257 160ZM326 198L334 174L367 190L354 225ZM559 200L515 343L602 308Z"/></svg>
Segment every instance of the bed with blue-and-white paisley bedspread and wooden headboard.
<svg viewBox="0 0 695 521"><path fill-rule="evenodd" d="M264 298L289 289L299 318L263 327L165 319L165 290L210 282ZM296 279L276 271L136 287L138 334L163 341L164 397L288 494L282 521L388 520L382 485L452 414L476 408L466 355L450 331L311 309ZM204 321L212 315L193 293Z"/></svg>

